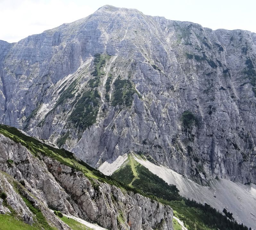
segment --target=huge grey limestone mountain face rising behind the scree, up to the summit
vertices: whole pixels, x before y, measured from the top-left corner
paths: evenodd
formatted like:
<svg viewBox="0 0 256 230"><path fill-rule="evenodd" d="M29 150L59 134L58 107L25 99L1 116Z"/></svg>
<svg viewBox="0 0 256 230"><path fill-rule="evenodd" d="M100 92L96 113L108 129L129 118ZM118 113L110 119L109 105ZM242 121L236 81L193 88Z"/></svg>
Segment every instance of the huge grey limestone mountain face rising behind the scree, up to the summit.
<svg viewBox="0 0 256 230"><path fill-rule="evenodd" d="M2 123L96 167L141 151L256 183L256 34L104 6L0 49Z"/></svg>

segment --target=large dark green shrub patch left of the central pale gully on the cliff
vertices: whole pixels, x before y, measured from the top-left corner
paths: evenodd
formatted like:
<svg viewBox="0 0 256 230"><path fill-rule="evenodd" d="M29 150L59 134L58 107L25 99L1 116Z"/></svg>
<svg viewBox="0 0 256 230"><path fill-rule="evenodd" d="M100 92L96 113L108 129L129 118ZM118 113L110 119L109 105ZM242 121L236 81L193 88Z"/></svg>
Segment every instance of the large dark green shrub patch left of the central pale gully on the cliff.
<svg viewBox="0 0 256 230"><path fill-rule="evenodd" d="M75 104L75 108L70 114L69 121L80 130L90 127L96 122L100 107L100 95L98 90L85 91Z"/></svg>

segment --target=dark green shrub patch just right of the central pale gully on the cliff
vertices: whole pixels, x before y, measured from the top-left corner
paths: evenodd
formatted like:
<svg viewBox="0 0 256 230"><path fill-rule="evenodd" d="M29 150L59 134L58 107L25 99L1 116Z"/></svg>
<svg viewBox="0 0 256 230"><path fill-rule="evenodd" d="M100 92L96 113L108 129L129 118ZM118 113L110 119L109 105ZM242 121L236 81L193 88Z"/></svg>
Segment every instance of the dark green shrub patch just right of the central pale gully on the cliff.
<svg viewBox="0 0 256 230"><path fill-rule="evenodd" d="M114 82L115 90L113 92L112 105L125 105L127 107L132 105L133 94L137 94L139 98L142 98L138 91L132 86L132 82L129 80L122 80L119 75Z"/></svg>

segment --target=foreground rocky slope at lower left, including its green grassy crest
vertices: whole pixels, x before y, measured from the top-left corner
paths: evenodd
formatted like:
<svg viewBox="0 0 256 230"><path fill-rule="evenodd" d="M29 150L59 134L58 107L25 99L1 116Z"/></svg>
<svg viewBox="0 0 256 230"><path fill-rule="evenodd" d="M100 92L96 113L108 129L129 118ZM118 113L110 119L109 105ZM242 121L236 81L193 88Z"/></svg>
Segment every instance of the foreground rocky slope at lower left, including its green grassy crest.
<svg viewBox="0 0 256 230"><path fill-rule="evenodd" d="M71 152L13 127L1 125L0 133L0 211L8 218L31 229L70 229L52 209L111 230L172 229L170 206L116 187Z"/></svg>

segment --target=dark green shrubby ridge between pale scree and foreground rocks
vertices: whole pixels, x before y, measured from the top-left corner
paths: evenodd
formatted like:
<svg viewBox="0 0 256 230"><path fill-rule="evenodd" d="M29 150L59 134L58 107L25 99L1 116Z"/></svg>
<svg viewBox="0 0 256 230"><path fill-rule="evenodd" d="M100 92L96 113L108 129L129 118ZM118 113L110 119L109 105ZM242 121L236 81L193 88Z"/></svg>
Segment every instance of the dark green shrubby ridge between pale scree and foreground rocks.
<svg viewBox="0 0 256 230"><path fill-rule="evenodd" d="M208 204L199 204L180 196L176 186L168 185L138 162L133 163L136 165L135 169L138 177L133 180L134 173L131 167L131 158L128 159L130 163L126 163L124 167L119 168L112 174L112 177L126 184L132 181L134 189L138 189L143 194L172 207L174 215L183 221L188 230L248 230L246 226L230 221ZM145 157L142 158L146 160ZM179 229L176 222L175 229Z"/></svg>

